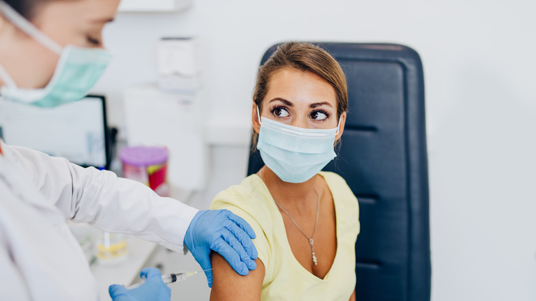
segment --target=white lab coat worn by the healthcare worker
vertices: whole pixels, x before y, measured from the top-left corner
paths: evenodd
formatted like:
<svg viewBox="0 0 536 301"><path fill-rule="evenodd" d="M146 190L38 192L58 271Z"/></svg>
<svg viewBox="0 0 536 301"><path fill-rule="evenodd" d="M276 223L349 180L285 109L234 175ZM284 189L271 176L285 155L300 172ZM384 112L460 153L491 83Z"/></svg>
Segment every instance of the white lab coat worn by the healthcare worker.
<svg viewBox="0 0 536 301"><path fill-rule="evenodd" d="M183 252L198 210L113 172L0 146L0 300L99 299L67 219Z"/></svg>

